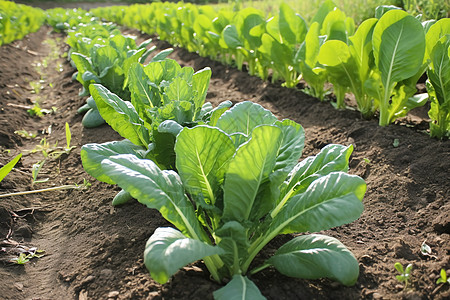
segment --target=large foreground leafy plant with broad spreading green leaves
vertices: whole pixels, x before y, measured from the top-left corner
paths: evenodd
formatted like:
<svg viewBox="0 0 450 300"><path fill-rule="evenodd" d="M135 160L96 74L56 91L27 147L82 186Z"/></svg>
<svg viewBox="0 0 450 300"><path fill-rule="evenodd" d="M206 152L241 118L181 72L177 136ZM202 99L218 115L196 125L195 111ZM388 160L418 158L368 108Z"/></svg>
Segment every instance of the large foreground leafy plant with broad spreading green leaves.
<svg viewBox="0 0 450 300"><path fill-rule="evenodd" d="M214 292L216 299L264 299L248 276L267 267L354 284L356 258L321 234L297 236L262 265L252 263L280 234L326 230L360 216L366 184L346 173L352 146L328 145L298 163L304 146L299 124L278 121L251 102L216 112L206 125L172 132L178 174L142 153L118 154L119 144L83 147L85 167L98 167L86 169L91 175L118 184L177 228L158 228L149 238L144 262L152 277L165 283L203 259L215 281L231 279Z"/></svg>

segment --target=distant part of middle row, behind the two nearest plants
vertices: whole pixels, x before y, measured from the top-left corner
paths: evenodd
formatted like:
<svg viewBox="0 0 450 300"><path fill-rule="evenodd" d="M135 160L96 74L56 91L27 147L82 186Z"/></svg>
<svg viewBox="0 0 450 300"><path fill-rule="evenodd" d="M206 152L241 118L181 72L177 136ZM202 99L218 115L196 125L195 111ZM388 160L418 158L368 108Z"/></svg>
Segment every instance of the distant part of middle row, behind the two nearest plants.
<svg viewBox="0 0 450 300"><path fill-rule="evenodd" d="M66 31L66 43L70 46L69 59L77 68L74 74L82 84L80 96L89 96L89 85L101 83L123 99L130 101L130 91L126 87L127 74L133 62L144 62L156 49L147 49L151 39L136 44L136 37L124 36L112 23L101 23L87 11L81 9L52 9L47 11L47 23L56 31ZM153 61L164 59L173 49L161 51ZM87 128L104 124L95 101L89 97L80 107L85 113L83 125Z"/></svg>

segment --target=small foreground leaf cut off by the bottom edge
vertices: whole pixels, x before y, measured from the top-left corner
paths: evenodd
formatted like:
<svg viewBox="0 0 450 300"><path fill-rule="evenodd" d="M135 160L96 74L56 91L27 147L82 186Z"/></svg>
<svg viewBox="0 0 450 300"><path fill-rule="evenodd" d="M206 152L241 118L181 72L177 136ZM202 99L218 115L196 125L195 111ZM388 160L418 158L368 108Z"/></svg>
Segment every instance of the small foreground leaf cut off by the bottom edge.
<svg viewBox="0 0 450 300"><path fill-rule="evenodd" d="M215 291L213 295L215 300L266 299L250 279L238 274L234 275L226 286Z"/></svg>

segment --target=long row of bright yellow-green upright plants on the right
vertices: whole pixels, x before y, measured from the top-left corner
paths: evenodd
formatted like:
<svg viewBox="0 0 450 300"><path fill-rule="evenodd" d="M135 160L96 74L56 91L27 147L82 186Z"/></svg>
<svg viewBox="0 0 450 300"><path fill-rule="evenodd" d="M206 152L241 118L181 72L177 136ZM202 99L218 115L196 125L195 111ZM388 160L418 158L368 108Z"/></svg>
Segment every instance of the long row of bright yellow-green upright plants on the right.
<svg viewBox="0 0 450 300"><path fill-rule="evenodd" d="M352 92L362 116L371 118L379 111L381 126L426 103L428 94L415 95L415 85L426 71L433 73L428 84L431 135L450 136L449 19L421 23L397 7L380 6L375 18L356 29L353 19L331 1L324 2L310 24L285 4L267 20L254 8L217 12L184 3L97 8L93 13L157 33L202 56L234 61L239 69L246 64L251 75L267 79L271 73L272 80L282 79L287 87L303 78L310 94L321 100L329 81L337 108L345 108L345 93ZM447 51L441 49L445 45Z"/></svg>

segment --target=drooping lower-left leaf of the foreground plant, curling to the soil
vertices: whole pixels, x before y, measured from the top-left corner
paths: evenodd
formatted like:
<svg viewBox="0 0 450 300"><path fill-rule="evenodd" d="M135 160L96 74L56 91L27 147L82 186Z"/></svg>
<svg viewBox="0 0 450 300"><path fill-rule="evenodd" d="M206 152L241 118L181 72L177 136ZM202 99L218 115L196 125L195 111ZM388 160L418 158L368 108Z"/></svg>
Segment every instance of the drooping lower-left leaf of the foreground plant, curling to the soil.
<svg viewBox="0 0 450 300"><path fill-rule="evenodd" d="M171 227L159 227L145 245L144 263L152 278L164 284L185 265L223 250L202 241L187 238Z"/></svg>

